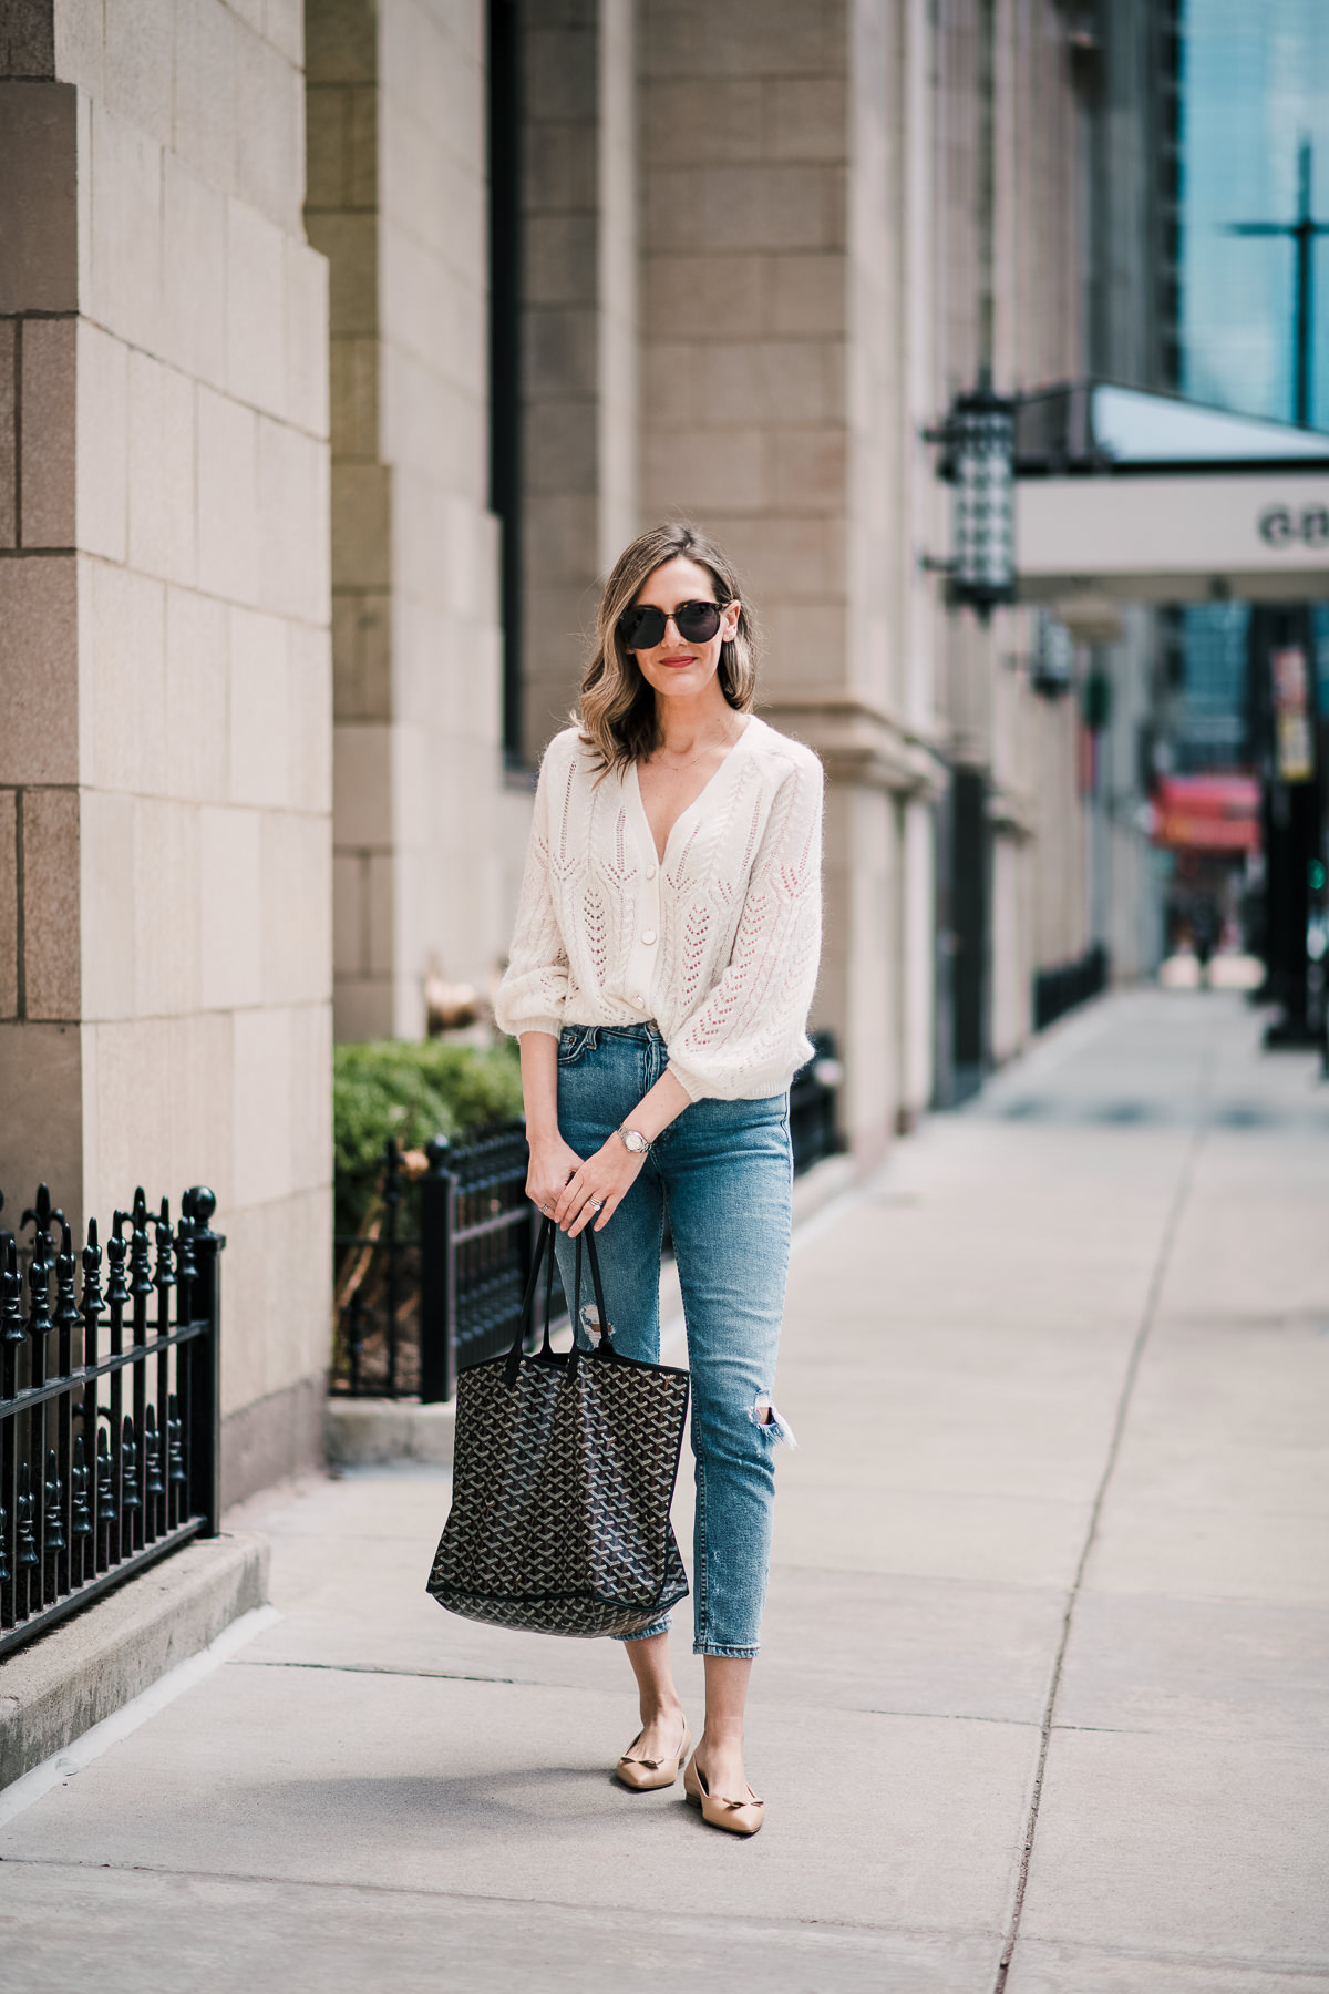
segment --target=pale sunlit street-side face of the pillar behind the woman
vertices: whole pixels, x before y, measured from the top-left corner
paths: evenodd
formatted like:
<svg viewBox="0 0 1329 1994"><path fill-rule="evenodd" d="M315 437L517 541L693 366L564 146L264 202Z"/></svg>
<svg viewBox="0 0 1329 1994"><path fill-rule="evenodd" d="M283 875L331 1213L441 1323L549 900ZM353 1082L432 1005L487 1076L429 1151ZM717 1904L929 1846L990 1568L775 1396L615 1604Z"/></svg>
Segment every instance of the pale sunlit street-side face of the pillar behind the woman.
<svg viewBox="0 0 1329 1994"><path fill-rule="evenodd" d="M923 0L857 0L849 50L849 642L861 746L889 810L887 901L865 909L857 955L881 951L861 1037L885 1041L887 1127L932 1097L934 810L944 794L938 584L946 493L925 431L940 403L934 36ZM833 764L835 766L835 764ZM877 983L887 991L883 1005Z"/></svg>

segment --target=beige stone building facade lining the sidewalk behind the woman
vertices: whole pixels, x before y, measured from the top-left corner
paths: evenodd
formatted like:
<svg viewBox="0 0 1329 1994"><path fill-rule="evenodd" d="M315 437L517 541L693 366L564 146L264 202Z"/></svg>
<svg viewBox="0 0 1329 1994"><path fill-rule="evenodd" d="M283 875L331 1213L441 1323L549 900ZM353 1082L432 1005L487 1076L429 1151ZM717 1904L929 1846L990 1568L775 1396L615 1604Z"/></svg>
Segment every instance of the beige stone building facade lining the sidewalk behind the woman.
<svg viewBox="0 0 1329 1994"><path fill-rule="evenodd" d="M6 22L0 1184L40 1172L74 1214L213 1184L237 1496L319 1446L333 1029L418 1035L430 967L492 981L530 776L638 524L733 550L763 712L825 760L815 1023L865 1164L1084 949L1074 702L1034 696L1028 612L946 606L925 435L984 367L1084 371L1076 22Z"/></svg>

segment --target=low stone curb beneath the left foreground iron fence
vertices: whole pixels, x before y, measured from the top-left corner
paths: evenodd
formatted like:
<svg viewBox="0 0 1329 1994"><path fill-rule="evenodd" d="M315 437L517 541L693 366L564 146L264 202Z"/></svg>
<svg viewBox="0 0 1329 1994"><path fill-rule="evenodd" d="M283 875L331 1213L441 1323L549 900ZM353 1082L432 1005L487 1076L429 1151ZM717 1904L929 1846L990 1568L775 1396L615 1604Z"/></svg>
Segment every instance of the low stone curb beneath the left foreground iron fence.
<svg viewBox="0 0 1329 1994"><path fill-rule="evenodd" d="M0 1789L267 1599L267 1537L195 1537L0 1667Z"/></svg>

